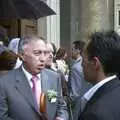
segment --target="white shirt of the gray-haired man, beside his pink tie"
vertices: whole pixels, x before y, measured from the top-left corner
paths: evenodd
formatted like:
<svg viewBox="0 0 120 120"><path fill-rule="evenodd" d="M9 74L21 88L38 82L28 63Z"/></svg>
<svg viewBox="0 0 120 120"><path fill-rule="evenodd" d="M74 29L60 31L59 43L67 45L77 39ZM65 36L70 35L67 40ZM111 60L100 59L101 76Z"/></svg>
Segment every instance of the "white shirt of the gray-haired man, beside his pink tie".
<svg viewBox="0 0 120 120"><path fill-rule="evenodd" d="M25 74L25 76L27 77L28 83L31 87L31 89L33 88L33 83L32 83L32 75L25 70L25 68L22 66L22 70ZM37 77L39 78L39 80L36 81L36 100L38 103L38 106L40 106L40 94L41 94L41 77L40 74L37 74Z"/></svg>

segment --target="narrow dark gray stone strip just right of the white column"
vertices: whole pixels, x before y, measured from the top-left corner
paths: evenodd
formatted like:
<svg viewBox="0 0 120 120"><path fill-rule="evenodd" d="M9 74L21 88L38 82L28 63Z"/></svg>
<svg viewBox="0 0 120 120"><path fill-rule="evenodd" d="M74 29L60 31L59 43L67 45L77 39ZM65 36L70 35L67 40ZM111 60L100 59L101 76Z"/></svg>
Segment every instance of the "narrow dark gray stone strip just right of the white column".
<svg viewBox="0 0 120 120"><path fill-rule="evenodd" d="M70 43L70 1L60 0L60 46Z"/></svg>

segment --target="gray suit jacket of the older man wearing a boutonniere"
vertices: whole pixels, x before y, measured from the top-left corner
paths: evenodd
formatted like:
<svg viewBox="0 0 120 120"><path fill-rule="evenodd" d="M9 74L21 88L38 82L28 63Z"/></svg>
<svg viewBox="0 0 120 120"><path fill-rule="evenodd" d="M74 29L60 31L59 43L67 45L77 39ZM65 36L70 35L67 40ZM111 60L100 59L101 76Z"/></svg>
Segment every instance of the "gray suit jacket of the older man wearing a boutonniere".
<svg viewBox="0 0 120 120"><path fill-rule="evenodd" d="M67 120L66 104L61 97L59 76L52 71L41 73L42 90L54 89L58 92L56 103L47 100L49 120L61 116ZM10 71L0 78L0 120L42 120L31 88L21 68Z"/></svg>

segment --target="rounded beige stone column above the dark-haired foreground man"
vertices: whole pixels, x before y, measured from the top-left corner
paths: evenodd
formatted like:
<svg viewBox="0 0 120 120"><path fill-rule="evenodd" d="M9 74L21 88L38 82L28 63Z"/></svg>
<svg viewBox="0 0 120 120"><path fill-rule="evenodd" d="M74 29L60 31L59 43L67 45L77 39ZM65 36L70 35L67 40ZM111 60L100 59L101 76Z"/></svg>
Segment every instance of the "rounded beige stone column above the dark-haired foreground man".
<svg viewBox="0 0 120 120"><path fill-rule="evenodd" d="M113 0L80 0L80 39L94 31L112 30L114 28Z"/></svg>

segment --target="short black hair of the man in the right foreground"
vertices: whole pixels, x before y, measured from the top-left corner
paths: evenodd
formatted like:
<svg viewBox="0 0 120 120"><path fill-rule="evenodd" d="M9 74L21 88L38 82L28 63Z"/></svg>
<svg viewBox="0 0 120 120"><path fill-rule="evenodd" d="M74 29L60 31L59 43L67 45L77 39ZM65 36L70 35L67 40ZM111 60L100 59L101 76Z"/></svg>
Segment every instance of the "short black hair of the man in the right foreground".
<svg viewBox="0 0 120 120"><path fill-rule="evenodd" d="M104 73L120 73L120 36L114 32L95 32L87 46L88 59L98 57Z"/></svg>

